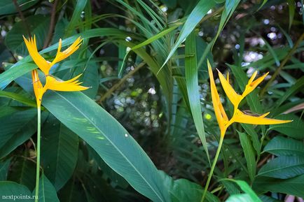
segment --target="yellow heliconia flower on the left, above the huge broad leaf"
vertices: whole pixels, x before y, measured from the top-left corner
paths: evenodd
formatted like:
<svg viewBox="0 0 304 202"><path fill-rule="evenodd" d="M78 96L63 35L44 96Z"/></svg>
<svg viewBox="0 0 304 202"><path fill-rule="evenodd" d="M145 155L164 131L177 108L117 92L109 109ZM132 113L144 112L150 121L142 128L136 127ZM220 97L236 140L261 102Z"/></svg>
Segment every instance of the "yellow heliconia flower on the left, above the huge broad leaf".
<svg viewBox="0 0 304 202"><path fill-rule="evenodd" d="M29 40L27 40L24 36L23 38L25 40L25 44L27 45L27 50L29 51L29 55L31 55L36 65L41 69L41 71L43 71L44 75L46 76L46 84L43 86L39 79L38 71L36 69L32 71L34 94L36 96L36 102L38 107L41 106L42 96L48 89L57 90L57 91L66 91L66 92L81 91L88 89L88 87L81 86L82 82L78 82L77 80L81 76L81 74L67 81L57 80L52 75L49 75L50 68L55 63L60 62L63 59L66 59L67 57L69 57L69 55L71 55L73 52L78 50L79 45L81 45L81 41L82 41L80 37L77 38L76 41L69 48L67 48L67 50L64 50L63 52L61 52L62 40L60 39L57 55L53 60L53 62L48 62L41 55L39 55L39 52L36 47L35 36L34 38L29 38Z"/></svg>

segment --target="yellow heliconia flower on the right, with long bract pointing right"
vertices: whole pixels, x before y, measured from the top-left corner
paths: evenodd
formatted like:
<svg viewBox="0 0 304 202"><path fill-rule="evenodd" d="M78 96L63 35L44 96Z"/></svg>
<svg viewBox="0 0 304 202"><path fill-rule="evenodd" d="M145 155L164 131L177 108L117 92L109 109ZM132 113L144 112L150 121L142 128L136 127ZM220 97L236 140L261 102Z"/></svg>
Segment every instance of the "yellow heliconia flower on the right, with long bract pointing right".
<svg viewBox="0 0 304 202"><path fill-rule="evenodd" d="M268 73L265 73L265 75L261 76L260 78L254 80L256 77L257 71L254 72L254 74L251 76L251 78L248 81L248 84L246 85L244 92L240 95L235 92L233 87L229 83L229 75L227 75L227 78L223 76L223 74L219 71L219 80L221 81L221 85L223 87L224 92L228 96L228 99L233 103L234 106L234 112L233 117L228 119L225 110L223 109L223 105L221 104L219 93L217 92L214 77L212 73L212 68L207 61L208 65L208 72L209 72L209 78L210 78L210 89L211 89L211 95L212 95L212 103L214 106L214 113L216 115L216 120L219 123L219 128L221 130L221 137L225 136L226 129L230 126L230 124L233 124L234 122L244 123L244 124L284 124L291 122L291 120L275 120L275 119L269 119L266 118L266 116L269 113L265 113L260 116L254 116L254 115L246 115L241 110L238 109L238 106L242 99L244 99L247 94L252 92L259 83L263 81L263 79L268 75Z"/></svg>

